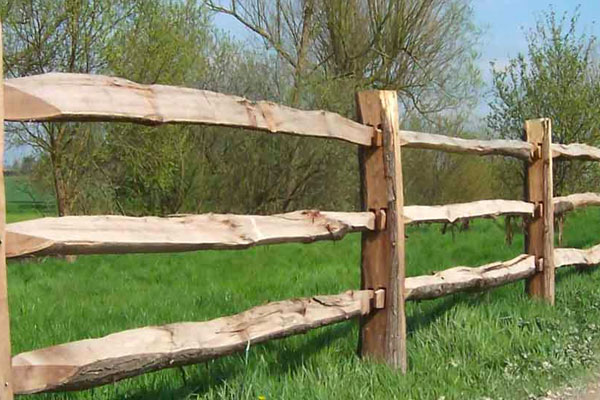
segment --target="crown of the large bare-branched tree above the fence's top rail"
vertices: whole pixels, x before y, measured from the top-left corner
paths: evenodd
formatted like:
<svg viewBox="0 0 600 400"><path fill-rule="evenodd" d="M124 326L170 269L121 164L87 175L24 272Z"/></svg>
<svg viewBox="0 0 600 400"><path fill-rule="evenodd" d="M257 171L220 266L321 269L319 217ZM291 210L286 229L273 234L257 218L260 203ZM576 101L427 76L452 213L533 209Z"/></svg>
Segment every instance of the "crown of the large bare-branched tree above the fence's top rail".
<svg viewBox="0 0 600 400"><path fill-rule="evenodd" d="M343 89L345 107L336 111L346 113L354 91L377 88L397 90L405 108L427 114L459 106L478 79L466 0L228 3L208 1L278 54L293 81L292 105L324 105L325 92Z"/></svg>

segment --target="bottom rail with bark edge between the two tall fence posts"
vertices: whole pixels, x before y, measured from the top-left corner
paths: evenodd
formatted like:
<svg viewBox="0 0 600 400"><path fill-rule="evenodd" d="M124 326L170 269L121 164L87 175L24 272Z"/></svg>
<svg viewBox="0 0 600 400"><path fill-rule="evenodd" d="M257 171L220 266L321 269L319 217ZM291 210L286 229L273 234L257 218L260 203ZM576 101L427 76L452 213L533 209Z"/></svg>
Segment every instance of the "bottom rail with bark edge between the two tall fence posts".
<svg viewBox="0 0 600 400"><path fill-rule="evenodd" d="M535 257L526 254L476 268L449 268L433 275L406 278L406 300L435 299L467 290L489 289L528 278L534 273Z"/></svg>

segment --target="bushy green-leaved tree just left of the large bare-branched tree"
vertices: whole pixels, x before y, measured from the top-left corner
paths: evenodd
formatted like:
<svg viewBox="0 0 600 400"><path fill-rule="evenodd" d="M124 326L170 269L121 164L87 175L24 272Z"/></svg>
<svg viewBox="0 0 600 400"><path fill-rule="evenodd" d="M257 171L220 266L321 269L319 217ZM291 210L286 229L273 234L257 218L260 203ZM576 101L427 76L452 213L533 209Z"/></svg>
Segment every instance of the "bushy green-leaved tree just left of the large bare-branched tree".
<svg viewBox="0 0 600 400"><path fill-rule="evenodd" d="M110 42L107 73L140 83L187 87L204 80L215 43L203 7L195 1L147 1L135 16ZM204 128L106 124L104 131L97 165L105 193L112 196L112 211L177 213L195 194L202 158L198 135Z"/></svg>

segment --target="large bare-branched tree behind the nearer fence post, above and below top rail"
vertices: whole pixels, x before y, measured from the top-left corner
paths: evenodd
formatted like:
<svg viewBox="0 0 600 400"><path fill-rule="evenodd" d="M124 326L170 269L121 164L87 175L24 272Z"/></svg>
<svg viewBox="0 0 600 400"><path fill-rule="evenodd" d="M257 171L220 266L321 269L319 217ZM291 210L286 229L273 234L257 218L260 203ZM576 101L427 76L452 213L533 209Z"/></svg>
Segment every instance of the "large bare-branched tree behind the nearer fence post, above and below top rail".
<svg viewBox="0 0 600 400"><path fill-rule="evenodd" d="M260 39L273 65L265 76L273 77L269 94L275 98L267 98L295 107L353 117L356 91L379 88L398 90L405 114L429 116L464 104L478 79L468 1L207 3ZM271 159L255 155L241 171L252 174L246 182L255 196L247 198L259 211L359 205L354 146L289 137L264 141L269 145L256 151L265 156L269 149Z"/></svg>

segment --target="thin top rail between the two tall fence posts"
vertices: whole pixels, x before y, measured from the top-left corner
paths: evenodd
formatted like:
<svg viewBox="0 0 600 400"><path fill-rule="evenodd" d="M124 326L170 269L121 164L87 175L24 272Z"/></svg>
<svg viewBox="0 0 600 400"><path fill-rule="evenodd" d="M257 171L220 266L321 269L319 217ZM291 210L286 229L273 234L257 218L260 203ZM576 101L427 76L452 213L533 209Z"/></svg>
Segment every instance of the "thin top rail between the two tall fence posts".
<svg viewBox="0 0 600 400"><path fill-rule="evenodd" d="M533 147L520 140L462 139L433 133L400 131L402 146L415 149L431 149L451 153L477 155L503 155L523 160L531 158Z"/></svg>

